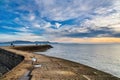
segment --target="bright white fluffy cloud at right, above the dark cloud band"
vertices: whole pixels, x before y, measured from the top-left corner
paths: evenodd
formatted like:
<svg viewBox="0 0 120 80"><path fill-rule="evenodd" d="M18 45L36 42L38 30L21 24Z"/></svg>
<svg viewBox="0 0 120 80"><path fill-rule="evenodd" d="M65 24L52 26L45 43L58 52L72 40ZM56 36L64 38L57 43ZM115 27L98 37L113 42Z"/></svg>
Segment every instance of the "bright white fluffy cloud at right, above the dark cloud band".
<svg viewBox="0 0 120 80"><path fill-rule="evenodd" d="M86 20L82 25L99 29L101 27L111 28L113 31L120 33L120 0L113 2L113 5L95 10L97 15L92 19ZM106 15L107 14L107 15Z"/></svg>

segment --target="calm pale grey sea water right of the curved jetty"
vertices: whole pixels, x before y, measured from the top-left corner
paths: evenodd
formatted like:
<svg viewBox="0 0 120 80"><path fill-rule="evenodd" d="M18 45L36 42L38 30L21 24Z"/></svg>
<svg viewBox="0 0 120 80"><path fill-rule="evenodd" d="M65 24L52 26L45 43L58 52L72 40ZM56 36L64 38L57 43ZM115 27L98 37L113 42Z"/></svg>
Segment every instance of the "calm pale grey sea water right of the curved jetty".
<svg viewBox="0 0 120 80"><path fill-rule="evenodd" d="M82 63L120 77L120 44L53 44L37 52Z"/></svg>

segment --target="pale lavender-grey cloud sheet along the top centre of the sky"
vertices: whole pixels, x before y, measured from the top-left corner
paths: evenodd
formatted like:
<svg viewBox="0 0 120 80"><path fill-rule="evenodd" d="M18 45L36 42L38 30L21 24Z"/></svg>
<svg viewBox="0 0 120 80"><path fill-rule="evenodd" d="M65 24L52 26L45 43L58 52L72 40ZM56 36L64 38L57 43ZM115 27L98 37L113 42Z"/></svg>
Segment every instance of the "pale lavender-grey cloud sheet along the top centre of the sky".
<svg viewBox="0 0 120 80"><path fill-rule="evenodd" d="M61 21L87 15L97 7L109 6L111 2L109 0L36 0L42 17Z"/></svg>

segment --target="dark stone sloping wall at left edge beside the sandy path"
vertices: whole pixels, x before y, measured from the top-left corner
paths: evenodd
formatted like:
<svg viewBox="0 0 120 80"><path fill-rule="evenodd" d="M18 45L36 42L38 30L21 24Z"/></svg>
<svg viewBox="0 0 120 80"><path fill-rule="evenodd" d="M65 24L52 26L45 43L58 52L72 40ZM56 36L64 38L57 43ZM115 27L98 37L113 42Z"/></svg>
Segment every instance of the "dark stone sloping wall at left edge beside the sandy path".
<svg viewBox="0 0 120 80"><path fill-rule="evenodd" d="M17 66L23 59L21 55L0 49L0 76Z"/></svg>

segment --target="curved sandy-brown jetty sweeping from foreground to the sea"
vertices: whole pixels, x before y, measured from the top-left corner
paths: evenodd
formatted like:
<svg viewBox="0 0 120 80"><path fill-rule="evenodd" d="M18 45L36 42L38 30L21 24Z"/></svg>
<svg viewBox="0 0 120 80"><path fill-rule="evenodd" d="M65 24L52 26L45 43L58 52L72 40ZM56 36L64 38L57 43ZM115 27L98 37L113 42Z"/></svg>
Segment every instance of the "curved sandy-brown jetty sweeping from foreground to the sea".
<svg viewBox="0 0 120 80"><path fill-rule="evenodd" d="M0 61L2 60L1 54L4 51L24 57L23 60L19 61L20 64L17 63L17 66L12 65L12 69L3 75L1 80L120 80L120 78L111 74L83 64L32 53L34 51L45 51L49 48L52 48L52 46L1 47ZM33 57L37 59L34 64L32 64ZM5 68L7 67L6 65L4 66Z"/></svg>

